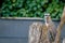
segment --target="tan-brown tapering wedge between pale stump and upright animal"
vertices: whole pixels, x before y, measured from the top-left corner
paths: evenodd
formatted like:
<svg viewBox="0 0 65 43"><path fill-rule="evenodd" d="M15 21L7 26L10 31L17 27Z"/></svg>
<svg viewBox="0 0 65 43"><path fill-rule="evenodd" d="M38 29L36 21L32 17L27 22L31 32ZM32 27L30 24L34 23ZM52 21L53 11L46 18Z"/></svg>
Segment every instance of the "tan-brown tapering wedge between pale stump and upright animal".
<svg viewBox="0 0 65 43"><path fill-rule="evenodd" d="M49 38L48 38L48 28L46 25L42 28L42 34L41 34L40 43L50 43Z"/></svg>

